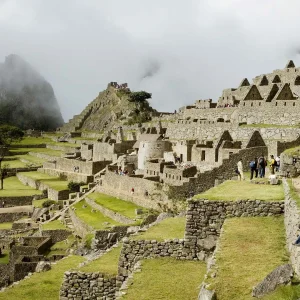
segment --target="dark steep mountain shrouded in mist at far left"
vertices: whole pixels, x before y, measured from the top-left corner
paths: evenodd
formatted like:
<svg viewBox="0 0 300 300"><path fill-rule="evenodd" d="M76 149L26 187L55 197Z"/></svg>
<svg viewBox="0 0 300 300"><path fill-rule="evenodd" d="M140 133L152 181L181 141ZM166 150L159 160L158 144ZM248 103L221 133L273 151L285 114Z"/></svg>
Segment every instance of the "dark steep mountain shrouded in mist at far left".
<svg viewBox="0 0 300 300"><path fill-rule="evenodd" d="M0 64L0 124L37 130L63 124L52 86L14 54Z"/></svg>

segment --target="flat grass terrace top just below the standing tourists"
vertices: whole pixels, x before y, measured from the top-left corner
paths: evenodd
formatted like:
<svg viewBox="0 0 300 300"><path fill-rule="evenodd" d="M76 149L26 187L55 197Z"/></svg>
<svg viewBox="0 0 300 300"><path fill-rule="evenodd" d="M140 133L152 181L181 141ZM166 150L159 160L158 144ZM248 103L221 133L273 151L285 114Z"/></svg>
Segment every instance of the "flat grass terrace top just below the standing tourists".
<svg viewBox="0 0 300 300"><path fill-rule="evenodd" d="M210 190L196 195L194 199L208 200L284 200L282 185L253 184L250 181L228 180Z"/></svg>

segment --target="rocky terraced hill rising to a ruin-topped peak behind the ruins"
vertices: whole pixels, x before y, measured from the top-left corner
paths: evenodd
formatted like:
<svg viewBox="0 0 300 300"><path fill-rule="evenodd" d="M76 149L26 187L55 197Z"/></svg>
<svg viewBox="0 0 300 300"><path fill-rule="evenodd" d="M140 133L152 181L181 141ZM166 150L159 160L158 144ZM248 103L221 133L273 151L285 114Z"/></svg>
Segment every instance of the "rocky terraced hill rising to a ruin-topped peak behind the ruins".
<svg viewBox="0 0 300 300"><path fill-rule="evenodd" d="M106 90L62 127L62 131L110 130L114 126L143 123L158 114L147 100L131 101L133 92L125 86L108 84Z"/></svg>

